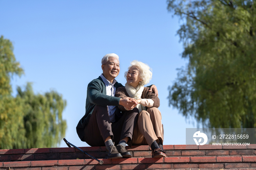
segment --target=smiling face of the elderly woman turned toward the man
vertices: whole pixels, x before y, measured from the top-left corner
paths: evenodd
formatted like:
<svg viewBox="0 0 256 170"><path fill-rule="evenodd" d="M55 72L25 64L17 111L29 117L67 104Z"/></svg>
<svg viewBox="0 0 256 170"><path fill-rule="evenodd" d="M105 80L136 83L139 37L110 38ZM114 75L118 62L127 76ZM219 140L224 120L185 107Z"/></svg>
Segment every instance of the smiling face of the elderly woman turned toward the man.
<svg viewBox="0 0 256 170"><path fill-rule="evenodd" d="M132 66L126 75L127 83L134 88L136 88L139 85L139 82L142 81L139 75L139 68L136 66Z"/></svg>

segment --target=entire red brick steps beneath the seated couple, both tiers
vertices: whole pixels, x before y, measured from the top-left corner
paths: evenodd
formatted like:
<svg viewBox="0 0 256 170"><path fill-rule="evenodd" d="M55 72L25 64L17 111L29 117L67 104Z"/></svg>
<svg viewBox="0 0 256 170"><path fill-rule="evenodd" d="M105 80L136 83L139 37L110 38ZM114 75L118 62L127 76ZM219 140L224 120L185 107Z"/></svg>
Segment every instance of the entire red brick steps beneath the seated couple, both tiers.
<svg viewBox="0 0 256 170"><path fill-rule="evenodd" d="M80 147L103 165L71 148L0 150L0 169L256 169L256 144L250 146L164 145L166 158L151 158L149 146L133 146L127 159L102 159L105 147Z"/></svg>

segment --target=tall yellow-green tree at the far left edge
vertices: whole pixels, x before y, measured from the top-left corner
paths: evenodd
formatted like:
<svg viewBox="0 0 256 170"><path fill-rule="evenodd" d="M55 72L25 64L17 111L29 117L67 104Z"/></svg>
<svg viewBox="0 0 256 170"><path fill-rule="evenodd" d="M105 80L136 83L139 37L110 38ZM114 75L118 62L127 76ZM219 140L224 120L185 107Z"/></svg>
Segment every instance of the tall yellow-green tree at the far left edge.
<svg viewBox="0 0 256 170"><path fill-rule="evenodd" d="M22 104L11 96L11 76L23 74L10 40L0 38L0 148L21 148L25 143Z"/></svg>

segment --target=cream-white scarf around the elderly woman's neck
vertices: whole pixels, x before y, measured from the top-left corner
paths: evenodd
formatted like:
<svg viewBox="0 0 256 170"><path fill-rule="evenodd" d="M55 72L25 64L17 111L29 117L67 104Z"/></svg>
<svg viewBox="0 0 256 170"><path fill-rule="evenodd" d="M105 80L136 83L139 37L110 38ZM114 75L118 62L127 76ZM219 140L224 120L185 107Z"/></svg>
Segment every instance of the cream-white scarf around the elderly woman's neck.
<svg viewBox="0 0 256 170"><path fill-rule="evenodd" d="M136 100L141 98L142 92L144 90L144 86L141 86L140 84L136 87L136 89L129 85L128 83L125 83L125 90L127 91L129 97L135 98ZM146 111L146 107L144 107L142 104L137 104L136 108L139 109L139 112Z"/></svg>

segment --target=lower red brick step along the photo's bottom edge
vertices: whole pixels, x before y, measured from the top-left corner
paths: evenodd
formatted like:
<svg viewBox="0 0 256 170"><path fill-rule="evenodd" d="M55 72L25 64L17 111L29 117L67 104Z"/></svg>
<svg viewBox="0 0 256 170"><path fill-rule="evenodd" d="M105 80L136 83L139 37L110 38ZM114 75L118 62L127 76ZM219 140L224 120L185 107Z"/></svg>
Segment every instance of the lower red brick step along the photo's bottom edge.
<svg viewBox="0 0 256 170"><path fill-rule="evenodd" d="M184 158L184 159L183 159ZM213 162L206 159L197 159L202 162L193 162L189 157L173 158L121 158L121 159L100 159L99 163L92 159L72 160L50 160L50 161L16 161L3 162L0 169L15 170L82 170L82 169L256 169L256 160L253 162ZM193 158L193 157L192 157Z"/></svg>

